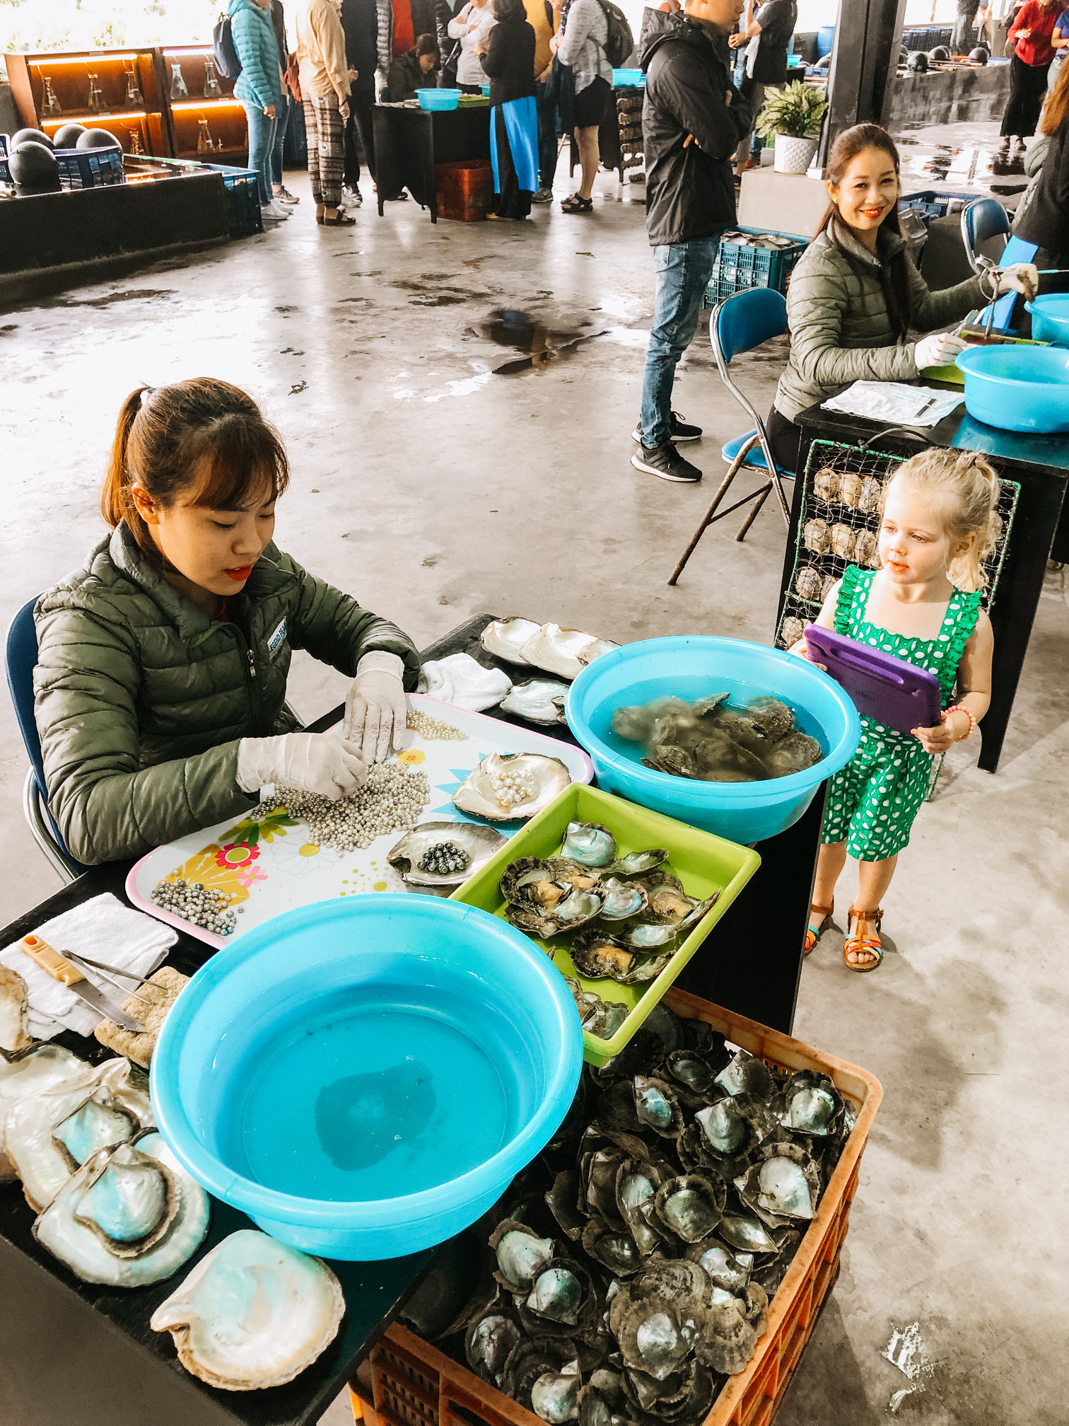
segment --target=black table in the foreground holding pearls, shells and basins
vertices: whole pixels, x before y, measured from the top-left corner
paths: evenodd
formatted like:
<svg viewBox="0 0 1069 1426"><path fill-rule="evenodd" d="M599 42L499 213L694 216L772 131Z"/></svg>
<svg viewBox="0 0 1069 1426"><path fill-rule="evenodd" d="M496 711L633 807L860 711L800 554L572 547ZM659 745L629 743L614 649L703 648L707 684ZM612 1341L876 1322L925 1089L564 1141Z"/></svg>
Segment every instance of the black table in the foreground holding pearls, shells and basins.
<svg viewBox="0 0 1069 1426"><path fill-rule="evenodd" d="M485 667L503 667L520 682L530 669L502 663L479 645L495 615L473 615L423 650L425 659L470 653ZM332 727L336 707L309 724ZM523 724L510 714L490 716ZM563 724L539 732L574 743ZM761 867L694 955L678 984L790 1031L801 973L812 877L824 809L822 791L788 831L758 843ZM0 931L0 945L73 906L114 893L127 903L130 863L97 867ZM178 934L167 964L190 975L212 954L204 941ZM54 1041L90 1061L107 1058L95 1040L64 1031ZM220 1392L178 1365L171 1335L153 1332L148 1319L192 1263L238 1228L244 1214L212 1199L204 1246L180 1272L134 1292L78 1282L30 1232L33 1214L19 1184L0 1185L0 1423L3 1426L312 1426L396 1315L430 1263L432 1253L388 1262L332 1262L345 1292L345 1318L331 1348L288 1386L261 1392Z"/></svg>

